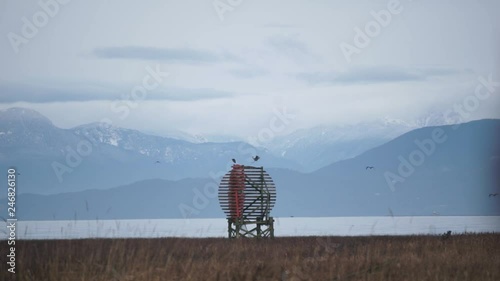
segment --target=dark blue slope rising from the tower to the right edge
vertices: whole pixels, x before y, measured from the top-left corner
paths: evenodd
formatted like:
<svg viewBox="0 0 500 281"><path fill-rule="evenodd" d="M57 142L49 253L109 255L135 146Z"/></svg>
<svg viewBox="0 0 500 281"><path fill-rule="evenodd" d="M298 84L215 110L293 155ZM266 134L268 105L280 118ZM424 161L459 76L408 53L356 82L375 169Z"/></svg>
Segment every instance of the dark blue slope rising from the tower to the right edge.
<svg viewBox="0 0 500 281"><path fill-rule="evenodd" d="M417 143L430 143L435 132L445 140L427 154ZM416 129L306 176L282 177L276 185L293 187L281 200L306 216L499 215L500 202L488 196L500 192L499 171L500 120L479 120ZM305 187L314 191L300 192Z"/></svg>

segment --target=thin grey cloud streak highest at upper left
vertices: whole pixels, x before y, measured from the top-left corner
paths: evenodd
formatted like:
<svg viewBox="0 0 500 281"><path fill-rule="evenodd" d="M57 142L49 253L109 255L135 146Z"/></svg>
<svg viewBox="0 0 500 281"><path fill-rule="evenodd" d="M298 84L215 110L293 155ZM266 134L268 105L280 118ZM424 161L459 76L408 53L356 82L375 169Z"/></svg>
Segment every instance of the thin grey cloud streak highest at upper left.
<svg viewBox="0 0 500 281"><path fill-rule="evenodd" d="M217 63L237 60L237 57L229 53L219 54L191 48L105 47L96 48L91 54L101 59L154 60L173 63Z"/></svg>

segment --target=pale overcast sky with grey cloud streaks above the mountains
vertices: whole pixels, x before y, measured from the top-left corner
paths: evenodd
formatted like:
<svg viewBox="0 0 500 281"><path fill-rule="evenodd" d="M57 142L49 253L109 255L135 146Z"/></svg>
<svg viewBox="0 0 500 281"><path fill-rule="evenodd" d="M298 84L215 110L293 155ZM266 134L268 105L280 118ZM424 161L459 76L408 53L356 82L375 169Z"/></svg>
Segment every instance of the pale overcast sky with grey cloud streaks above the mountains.
<svg viewBox="0 0 500 281"><path fill-rule="evenodd" d="M0 109L63 128L105 118L246 138L284 108L286 131L411 121L463 103L480 76L500 81L497 0L65 0L47 15L39 3L53 1L0 0ZM375 24L373 12L391 16ZM356 28L372 28L363 46ZM155 71L169 75L154 85ZM499 96L468 119L499 118Z"/></svg>

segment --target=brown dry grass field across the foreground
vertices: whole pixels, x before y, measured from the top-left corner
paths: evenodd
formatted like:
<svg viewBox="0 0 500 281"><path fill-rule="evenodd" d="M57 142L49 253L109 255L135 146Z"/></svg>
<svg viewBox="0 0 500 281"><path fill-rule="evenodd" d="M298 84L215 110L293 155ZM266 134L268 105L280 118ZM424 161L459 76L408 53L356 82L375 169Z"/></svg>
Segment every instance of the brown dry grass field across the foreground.
<svg viewBox="0 0 500 281"><path fill-rule="evenodd" d="M17 280L500 280L500 234L16 242ZM5 242L5 241L4 241ZM14 280L4 266L0 280Z"/></svg>

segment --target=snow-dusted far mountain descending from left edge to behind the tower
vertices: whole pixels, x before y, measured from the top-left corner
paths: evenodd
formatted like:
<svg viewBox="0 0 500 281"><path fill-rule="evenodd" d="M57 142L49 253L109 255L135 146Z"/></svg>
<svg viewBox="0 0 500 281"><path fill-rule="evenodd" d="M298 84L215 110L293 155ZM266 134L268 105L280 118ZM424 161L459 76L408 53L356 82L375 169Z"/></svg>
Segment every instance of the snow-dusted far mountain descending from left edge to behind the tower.
<svg viewBox="0 0 500 281"><path fill-rule="evenodd" d="M23 175L19 192L59 193L137 180L218 177L239 163L297 168L292 161L243 142L191 143L92 123L61 129L43 115L13 108L0 113L0 168ZM22 182L22 184L21 184Z"/></svg>

